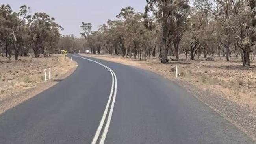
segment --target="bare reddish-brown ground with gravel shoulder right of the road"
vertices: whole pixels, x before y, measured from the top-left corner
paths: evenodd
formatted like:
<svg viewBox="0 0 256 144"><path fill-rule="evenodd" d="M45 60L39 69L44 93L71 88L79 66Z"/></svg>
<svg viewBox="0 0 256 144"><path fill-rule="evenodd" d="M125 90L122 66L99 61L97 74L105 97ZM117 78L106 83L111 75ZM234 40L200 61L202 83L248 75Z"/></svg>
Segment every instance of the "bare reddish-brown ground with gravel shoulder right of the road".
<svg viewBox="0 0 256 144"><path fill-rule="evenodd" d="M139 61L113 55L83 55L136 66L171 79L256 140L255 62L245 68L241 61L227 62L224 57L191 61L183 56L179 61L163 64L158 58Z"/></svg>

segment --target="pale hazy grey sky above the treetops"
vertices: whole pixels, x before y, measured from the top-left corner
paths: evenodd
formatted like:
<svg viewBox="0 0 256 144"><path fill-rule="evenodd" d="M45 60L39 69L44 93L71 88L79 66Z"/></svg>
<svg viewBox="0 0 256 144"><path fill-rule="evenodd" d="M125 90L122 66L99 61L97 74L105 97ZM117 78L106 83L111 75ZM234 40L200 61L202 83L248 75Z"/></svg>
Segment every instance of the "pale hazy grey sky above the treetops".
<svg viewBox="0 0 256 144"><path fill-rule="evenodd" d="M123 7L132 6L135 11L144 12L146 0L0 0L0 4L10 4L13 11L25 4L31 8L31 15L45 12L64 28L63 35L80 37L81 22L91 22L93 30L97 30L108 19L115 20Z"/></svg>

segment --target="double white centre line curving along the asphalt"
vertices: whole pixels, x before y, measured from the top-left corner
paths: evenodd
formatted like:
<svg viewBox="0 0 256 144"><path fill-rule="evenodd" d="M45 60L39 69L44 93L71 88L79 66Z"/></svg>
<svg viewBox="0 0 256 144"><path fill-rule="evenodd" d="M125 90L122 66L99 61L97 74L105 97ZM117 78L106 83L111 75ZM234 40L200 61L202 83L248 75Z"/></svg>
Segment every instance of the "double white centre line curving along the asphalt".
<svg viewBox="0 0 256 144"><path fill-rule="evenodd" d="M76 56L76 55L73 55L73 56L74 57L79 57L79 56ZM107 114L108 114L106 125L103 129L103 132L102 132L102 135L101 135L101 138L100 138L100 141L99 141L99 144L104 144L107 133L108 133L108 128L109 128L109 125L110 125L110 122L111 122L112 114L113 114L113 109L114 109L114 105L115 105L115 98L116 98L116 95L117 95L117 76L115 75L115 72L113 70L111 70L111 68L109 68L108 66L103 65L102 63L99 63L97 61L93 61L91 59L87 59L87 58L84 58L84 57L79 57L79 58L86 59L88 61L92 61L94 63L97 63L97 64L103 66L104 68L109 70L109 72L111 73L111 76L112 76L112 87L111 87L111 92L109 94L108 103L107 103L106 108L104 110L103 116L100 120L100 124L98 126L98 129L97 129L97 131L96 131L96 133L93 137L93 141L91 142L91 144L96 144L96 142L99 140L100 132L102 131L104 122L105 122ZM112 97L113 97L113 100L112 100ZM112 100L112 102L111 102L111 100ZM110 103L111 103L111 107L110 107L110 110L109 110ZM108 113L108 110L109 110L109 113Z"/></svg>

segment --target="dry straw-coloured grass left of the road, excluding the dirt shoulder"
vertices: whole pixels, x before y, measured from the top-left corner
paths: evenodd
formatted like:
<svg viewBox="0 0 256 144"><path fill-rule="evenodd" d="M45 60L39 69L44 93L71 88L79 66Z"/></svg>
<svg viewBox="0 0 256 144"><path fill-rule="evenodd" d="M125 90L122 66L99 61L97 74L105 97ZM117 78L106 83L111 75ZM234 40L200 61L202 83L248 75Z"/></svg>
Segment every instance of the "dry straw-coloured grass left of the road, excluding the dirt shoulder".
<svg viewBox="0 0 256 144"><path fill-rule="evenodd" d="M75 62L71 64L63 55L20 57L19 61L0 57L0 103L44 83L44 69L51 68L54 80L75 66Z"/></svg>

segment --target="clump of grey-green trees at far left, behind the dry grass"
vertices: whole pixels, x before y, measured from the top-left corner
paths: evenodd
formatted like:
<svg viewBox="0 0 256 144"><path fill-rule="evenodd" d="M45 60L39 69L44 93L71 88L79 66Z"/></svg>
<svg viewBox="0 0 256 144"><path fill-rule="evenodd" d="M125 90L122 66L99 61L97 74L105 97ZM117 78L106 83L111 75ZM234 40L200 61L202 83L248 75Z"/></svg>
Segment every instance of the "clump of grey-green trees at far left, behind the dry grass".
<svg viewBox="0 0 256 144"><path fill-rule="evenodd" d="M30 7L23 5L19 12L13 12L9 5L0 7L0 46L5 43L6 57L15 54L26 55L33 49L35 57L39 54L48 56L57 48L61 26L46 13L28 15Z"/></svg>

